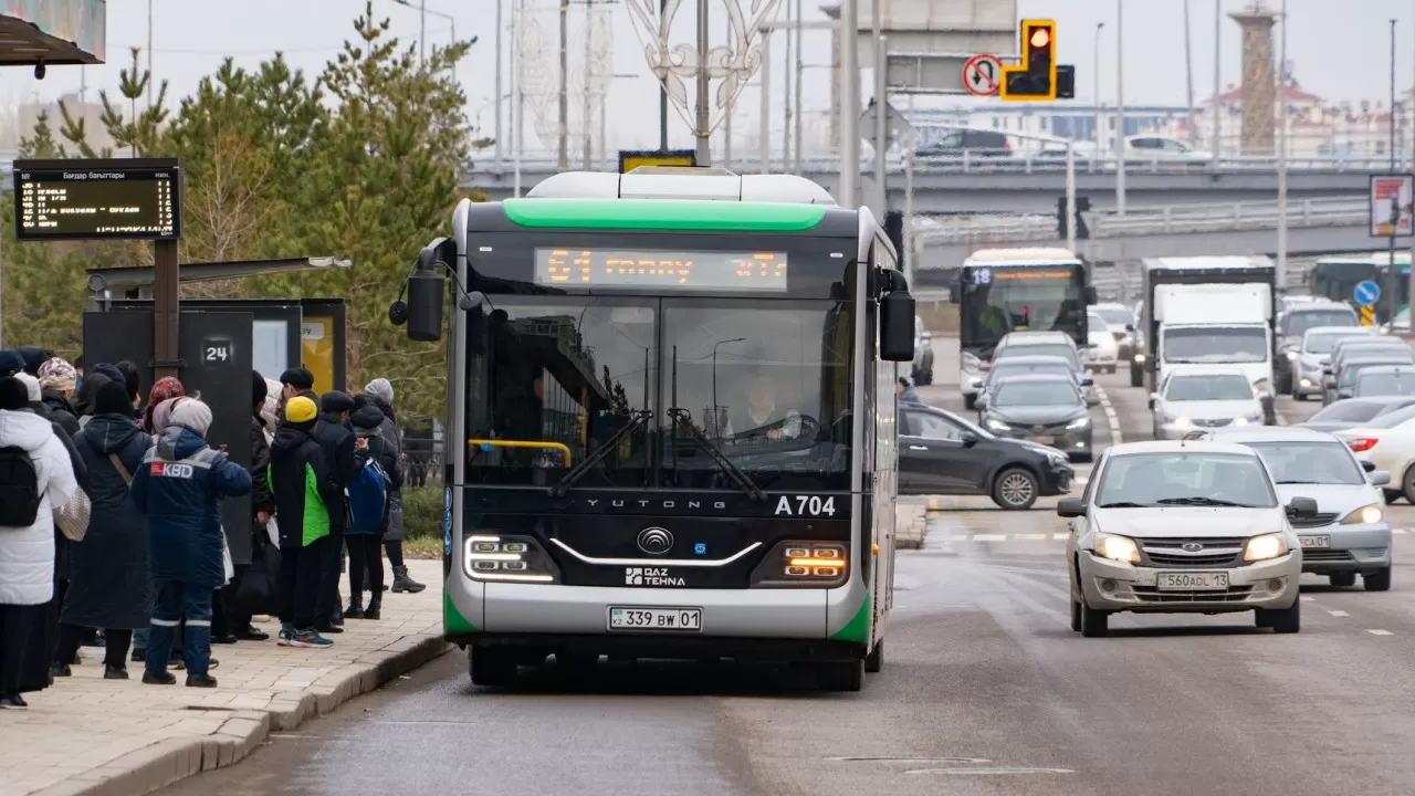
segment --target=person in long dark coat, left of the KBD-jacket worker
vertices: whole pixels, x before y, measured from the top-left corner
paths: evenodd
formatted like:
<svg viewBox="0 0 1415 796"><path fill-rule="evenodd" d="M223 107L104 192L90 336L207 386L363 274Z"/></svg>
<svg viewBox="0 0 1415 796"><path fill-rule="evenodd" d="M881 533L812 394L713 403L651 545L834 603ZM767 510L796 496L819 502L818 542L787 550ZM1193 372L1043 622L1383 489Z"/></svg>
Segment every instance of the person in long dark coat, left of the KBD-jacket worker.
<svg viewBox="0 0 1415 796"><path fill-rule="evenodd" d="M125 385L108 381L93 404L93 418L74 439L88 469L83 490L92 504L88 533L72 545L72 578L59 615L55 674L67 677L85 627L103 627L103 677L127 680L133 630L151 616L146 517L127 500L127 486L153 438L132 418Z"/></svg>

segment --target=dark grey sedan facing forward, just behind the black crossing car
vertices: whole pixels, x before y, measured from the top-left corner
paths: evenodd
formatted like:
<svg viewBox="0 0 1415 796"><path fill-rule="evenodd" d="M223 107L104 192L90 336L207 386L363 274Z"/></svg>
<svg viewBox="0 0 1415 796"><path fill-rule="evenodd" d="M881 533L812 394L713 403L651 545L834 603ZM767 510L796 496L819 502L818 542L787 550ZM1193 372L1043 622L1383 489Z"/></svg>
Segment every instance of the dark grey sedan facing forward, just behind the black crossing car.
<svg viewBox="0 0 1415 796"><path fill-rule="evenodd" d="M981 406L983 428L998 436L1050 445L1077 462L1092 457L1091 411L1070 378L1007 377L988 391Z"/></svg>

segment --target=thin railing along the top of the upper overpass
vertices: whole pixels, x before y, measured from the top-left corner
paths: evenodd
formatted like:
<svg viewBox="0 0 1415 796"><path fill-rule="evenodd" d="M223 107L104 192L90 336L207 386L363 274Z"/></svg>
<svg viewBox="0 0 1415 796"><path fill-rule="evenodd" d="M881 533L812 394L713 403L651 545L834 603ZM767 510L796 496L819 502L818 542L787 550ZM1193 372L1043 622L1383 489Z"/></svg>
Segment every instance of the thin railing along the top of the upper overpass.
<svg viewBox="0 0 1415 796"><path fill-rule="evenodd" d="M753 157L733 159L727 169L740 174L756 174L760 171L760 160ZM719 166L722 163L717 163ZM1077 174L1107 174L1115 173L1115 157L1075 156ZM899 156L889 157L889 171L891 174L904 173L904 160ZM495 160L478 159L471 161L471 180L477 173L505 176L515 170L511 159L504 159L499 164ZM555 157L532 156L521 160L522 171L545 173L555 171L558 160ZM572 160L570 169L582 169ZM599 164L591 166L591 170ZM613 167L611 167L613 169ZM1353 173L1353 174L1388 174L1391 161L1378 157L1289 157L1288 169L1292 171L1319 173ZM771 159L771 173L791 173L797 170L794 160L782 157ZM841 170L841 160L836 156L815 156L801 161L802 174L835 174ZM862 171L873 171L873 159L865 157L860 163ZM1228 156L1220 157L1217 167L1213 160L1183 160L1183 159L1139 159L1126 157L1125 170L1128 174L1252 174L1278 170L1278 159L1271 156ZM1411 171L1409 159L1397 160L1395 171L1408 174ZM916 174L1063 174L1065 173L1065 153L1046 152L1030 154L989 156L965 152L959 156L920 157L914 160Z"/></svg>

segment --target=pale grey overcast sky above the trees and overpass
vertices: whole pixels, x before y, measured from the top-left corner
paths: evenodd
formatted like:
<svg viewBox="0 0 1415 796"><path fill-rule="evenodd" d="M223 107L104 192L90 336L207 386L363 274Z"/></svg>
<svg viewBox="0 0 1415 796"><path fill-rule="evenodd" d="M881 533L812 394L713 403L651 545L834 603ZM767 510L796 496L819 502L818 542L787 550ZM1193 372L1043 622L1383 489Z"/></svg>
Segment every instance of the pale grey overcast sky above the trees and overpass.
<svg viewBox="0 0 1415 796"><path fill-rule="evenodd" d="M412 0L416 6L420 0ZM467 86L468 115L481 119L490 135L494 108L495 3L498 0L426 0L436 10L456 18L461 38L478 35L471 55L461 64L458 76ZM509 8L516 0L499 0ZM552 7L556 0L525 0L532 7ZM723 0L709 0L716 8ZM986 1L986 0L976 0ZM1184 69L1184 0L1121 0L1125 4L1124 54L1126 105L1182 105L1186 95ZM691 3L686 3L691 6ZM744 3L747 4L747 3ZM805 3L808 18L824 18L816 10L821 0ZM860 0L869 7L869 0ZM1224 13L1249 6L1248 0L1220 0ZM1278 6L1281 0L1269 0ZM1214 0L1189 0L1193 37L1193 81L1196 101L1213 91ZM1397 82L1401 91L1415 78L1415 0L1288 0L1288 58L1295 62L1300 84L1329 101L1384 101L1390 79L1390 20L1397 25ZM364 8L364 0L151 0L154 71L167 79L170 102L191 93L201 75L214 71L224 55L256 65L276 50L284 51L297 67L318 74L341 42L352 34L351 21ZM419 35L419 13L393 3L375 0L375 13L392 20L393 33L406 42ZM129 47L146 47L149 0L109 0L109 64L86 71L91 91L113 89L117 71L129 62ZM583 0L574 0L572 14L583 14ZM634 35L623 3L613 6L614 71L640 75L614 81L610 95L610 140L621 147L657 144L657 86L644 76L642 47ZM1060 58L1077 67L1077 102L1090 103L1094 92L1094 42L1097 23L1105 23L1101 38L1101 95L1115 99L1116 0L1017 0L1019 14L1051 17L1058 25ZM1360 11L1356 11L1360 8ZM691 35L692 18L683 13L681 31ZM553 17L552 17L553 18ZM717 20L722 17L717 16ZM713 25L717 27L717 25ZM444 42L451 30L440 16L429 13L427 40ZM572 52L576 52L572 37ZM829 38L821 31L805 34L805 59L829 61ZM583 47L583 44L580 45ZM1238 81L1238 25L1227 17L1221 23L1221 81ZM507 58L511 41L507 37ZM780 57L781 50L774 48ZM583 57L583 55L582 55ZM146 55L144 55L146 61ZM576 57L572 55L572 64ZM553 61L552 61L553 64ZM552 67L553 71L553 67ZM509 68L507 69L509 75ZM781 75L781 69L775 69ZM509 78L507 78L509 79ZM808 71L805 105L828 105L828 78L822 69ZM55 67L48 78L35 81L28 69L0 71L0 101L7 103L31 98L54 98L76 91L78 67ZM504 86L502 91L507 91ZM780 89L775 89L780 91ZM865 92L869 96L869 92ZM780 96L780 95L778 95ZM743 119L754 116L760 101L756 88L740 99ZM756 125L756 122L744 122ZM686 127L671 119L675 144L688 144ZM747 129L756 129L754 126ZM528 146L535 147L528 125Z"/></svg>

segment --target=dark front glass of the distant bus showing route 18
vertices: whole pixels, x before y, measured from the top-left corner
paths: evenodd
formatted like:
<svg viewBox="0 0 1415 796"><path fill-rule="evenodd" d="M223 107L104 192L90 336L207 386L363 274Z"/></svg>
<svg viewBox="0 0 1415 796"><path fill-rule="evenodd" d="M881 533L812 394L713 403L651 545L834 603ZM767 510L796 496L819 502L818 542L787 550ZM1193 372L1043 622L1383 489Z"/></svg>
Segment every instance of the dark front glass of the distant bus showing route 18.
<svg viewBox="0 0 1415 796"><path fill-rule="evenodd" d="M972 265L959 290L965 348L992 348L1009 331L1064 331L1087 343L1085 269L1057 265Z"/></svg>

